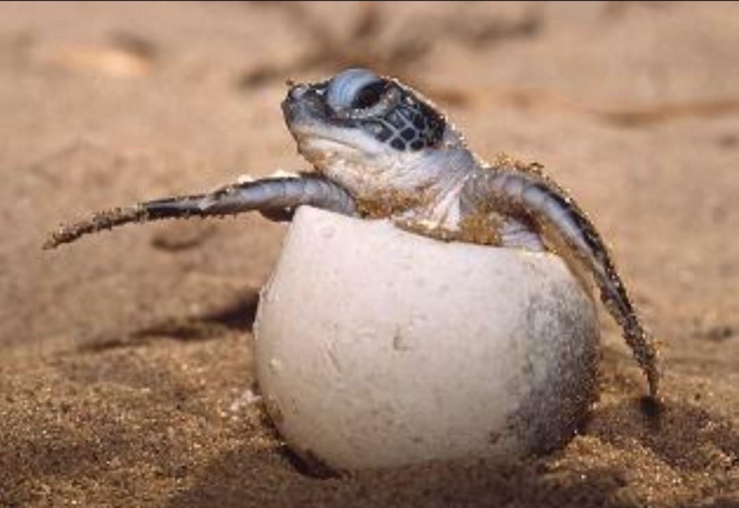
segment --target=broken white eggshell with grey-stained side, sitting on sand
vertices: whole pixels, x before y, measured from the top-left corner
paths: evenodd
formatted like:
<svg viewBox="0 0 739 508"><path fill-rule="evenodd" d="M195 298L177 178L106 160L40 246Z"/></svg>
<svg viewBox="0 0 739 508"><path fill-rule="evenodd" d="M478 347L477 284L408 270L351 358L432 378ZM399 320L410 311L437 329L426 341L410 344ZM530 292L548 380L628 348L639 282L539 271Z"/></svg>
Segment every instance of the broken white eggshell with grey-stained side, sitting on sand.
<svg viewBox="0 0 739 508"><path fill-rule="evenodd" d="M290 447L360 470L567 442L593 396L599 326L556 255L301 207L255 337L259 385Z"/></svg>

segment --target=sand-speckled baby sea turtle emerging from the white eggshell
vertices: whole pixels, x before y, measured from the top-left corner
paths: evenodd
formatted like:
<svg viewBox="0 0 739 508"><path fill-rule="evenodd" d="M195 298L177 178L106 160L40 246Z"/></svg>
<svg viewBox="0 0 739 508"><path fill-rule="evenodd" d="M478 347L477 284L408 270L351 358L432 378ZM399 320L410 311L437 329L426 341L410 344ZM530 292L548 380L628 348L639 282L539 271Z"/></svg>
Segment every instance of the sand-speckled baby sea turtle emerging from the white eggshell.
<svg viewBox="0 0 739 508"><path fill-rule="evenodd" d="M657 396L656 348L605 242L541 166L509 157L483 162L433 103L367 69L290 86L282 110L314 173L104 210L61 227L44 247L129 222L250 210L289 220L296 207L310 205L347 216L391 219L399 227L448 241L556 250L593 276L644 370L650 394Z"/></svg>

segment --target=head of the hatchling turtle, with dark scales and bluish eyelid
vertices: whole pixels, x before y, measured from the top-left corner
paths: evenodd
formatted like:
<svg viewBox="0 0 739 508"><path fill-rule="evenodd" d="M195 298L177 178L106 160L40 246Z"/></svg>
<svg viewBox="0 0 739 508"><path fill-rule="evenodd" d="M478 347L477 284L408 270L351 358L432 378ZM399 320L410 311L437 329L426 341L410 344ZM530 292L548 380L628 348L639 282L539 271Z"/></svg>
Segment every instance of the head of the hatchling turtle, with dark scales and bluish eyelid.
<svg viewBox="0 0 739 508"><path fill-rule="evenodd" d="M466 150L432 103L367 69L293 85L282 110L298 151L358 198L435 185L440 154Z"/></svg>

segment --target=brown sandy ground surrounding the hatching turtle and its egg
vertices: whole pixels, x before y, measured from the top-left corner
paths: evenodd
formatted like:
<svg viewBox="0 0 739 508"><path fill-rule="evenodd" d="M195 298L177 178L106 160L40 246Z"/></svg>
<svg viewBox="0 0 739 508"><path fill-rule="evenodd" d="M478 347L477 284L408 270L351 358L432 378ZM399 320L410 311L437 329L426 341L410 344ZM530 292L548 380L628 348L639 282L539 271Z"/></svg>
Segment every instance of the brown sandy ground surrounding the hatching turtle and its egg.
<svg viewBox="0 0 739 508"><path fill-rule="evenodd" d="M0 505L739 506L738 62L738 4L0 4ZM663 343L661 411L604 315L563 450L311 478L246 397L283 226L41 251L89 210L304 169L284 81L349 63L573 191Z"/></svg>

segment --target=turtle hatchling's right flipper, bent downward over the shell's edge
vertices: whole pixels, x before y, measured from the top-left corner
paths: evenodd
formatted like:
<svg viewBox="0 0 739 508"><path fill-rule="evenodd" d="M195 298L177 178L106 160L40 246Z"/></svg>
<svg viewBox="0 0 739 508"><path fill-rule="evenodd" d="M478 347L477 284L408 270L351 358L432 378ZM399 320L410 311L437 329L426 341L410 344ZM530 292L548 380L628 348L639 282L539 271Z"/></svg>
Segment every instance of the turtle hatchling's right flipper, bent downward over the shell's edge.
<svg viewBox="0 0 739 508"><path fill-rule="evenodd" d="M647 333L611 260L605 242L588 216L537 165L505 161L476 171L467 179L460 196L463 216L505 213L534 222L565 244L593 273L601 300L624 331L624 338L644 370L650 394L659 384L657 349Z"/></svg>

